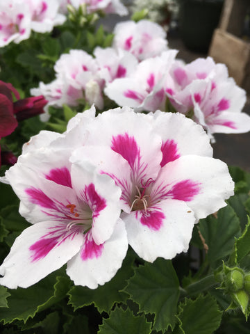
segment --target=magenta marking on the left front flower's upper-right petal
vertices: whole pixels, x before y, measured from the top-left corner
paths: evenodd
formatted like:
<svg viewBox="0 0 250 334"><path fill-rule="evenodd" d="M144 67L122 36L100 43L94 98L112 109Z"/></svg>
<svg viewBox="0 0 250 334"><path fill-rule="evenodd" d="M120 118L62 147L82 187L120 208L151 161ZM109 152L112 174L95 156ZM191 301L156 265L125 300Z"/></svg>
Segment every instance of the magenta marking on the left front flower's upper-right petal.
<svg viewBox="0 0 250 334"><path fill-rule="evenodd" d="M92 210L92 218L97 218L101 210L106 208L106 200L99 196L94 188L94 184L90 183L85 186L85 189L81 191L81 195L85 202L88 203L90 209Z"/></svg>

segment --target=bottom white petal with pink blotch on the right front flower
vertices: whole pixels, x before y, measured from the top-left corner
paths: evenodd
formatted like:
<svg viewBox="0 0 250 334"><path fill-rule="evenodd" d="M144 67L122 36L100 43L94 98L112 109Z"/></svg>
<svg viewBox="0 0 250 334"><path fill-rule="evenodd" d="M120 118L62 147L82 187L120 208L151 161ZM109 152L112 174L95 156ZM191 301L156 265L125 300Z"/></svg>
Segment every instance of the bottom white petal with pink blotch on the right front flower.
<svg viewBox="0 0 250 334"><path fill-rule="evenodd" d="M195 218L183 201L163 200L157 205L130 214L122 214L128 244L142 259L153 262L157 257L172 259L188 250Z"/></svg>

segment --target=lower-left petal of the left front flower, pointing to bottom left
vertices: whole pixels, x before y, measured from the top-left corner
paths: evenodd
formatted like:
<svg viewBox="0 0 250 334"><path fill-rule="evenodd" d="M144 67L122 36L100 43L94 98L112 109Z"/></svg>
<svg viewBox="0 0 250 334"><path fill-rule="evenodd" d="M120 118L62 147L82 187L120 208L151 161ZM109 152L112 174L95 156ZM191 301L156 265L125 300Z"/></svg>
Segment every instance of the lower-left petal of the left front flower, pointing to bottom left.
<svg viewBox="0 0 250 334"><path fill-rule="evenodd" d="M65 225L44 221L26 228L15 240L0 267L0 284L29 287L59 269L83 244L82 233L68 233Z"/></svg>

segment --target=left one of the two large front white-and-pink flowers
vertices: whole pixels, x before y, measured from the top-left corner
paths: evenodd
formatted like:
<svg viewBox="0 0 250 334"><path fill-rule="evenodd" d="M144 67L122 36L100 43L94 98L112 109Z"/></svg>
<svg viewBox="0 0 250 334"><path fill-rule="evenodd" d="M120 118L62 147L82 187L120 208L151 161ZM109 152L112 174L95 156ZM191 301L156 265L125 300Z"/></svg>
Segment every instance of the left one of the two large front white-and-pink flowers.
<svg viewBox="0 0 250 334"><path fill-rule="evenodd" d="M5 182L21 200L20 214L33 225L17 237L1 264L1 285L28 287L67 263L74 283L93 289L122 266L128 241L119 218L121 190L88 158L71 164L67 140L60 149L64 140L42 132L6 172Z"/></svg>

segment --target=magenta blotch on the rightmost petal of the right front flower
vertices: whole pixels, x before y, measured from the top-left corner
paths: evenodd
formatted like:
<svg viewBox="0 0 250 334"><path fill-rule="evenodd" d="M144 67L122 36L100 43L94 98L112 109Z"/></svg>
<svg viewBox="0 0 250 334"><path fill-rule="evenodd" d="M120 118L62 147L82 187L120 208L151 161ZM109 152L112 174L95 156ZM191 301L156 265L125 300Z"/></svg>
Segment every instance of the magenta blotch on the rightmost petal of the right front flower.
<svg viewBox="0 0 250 334"><path fill-rule="evenodd" d="M174 184L173 188L167 193L174 200L190 202L200 192L199 183L192 180L183 180Z"/></svg>

